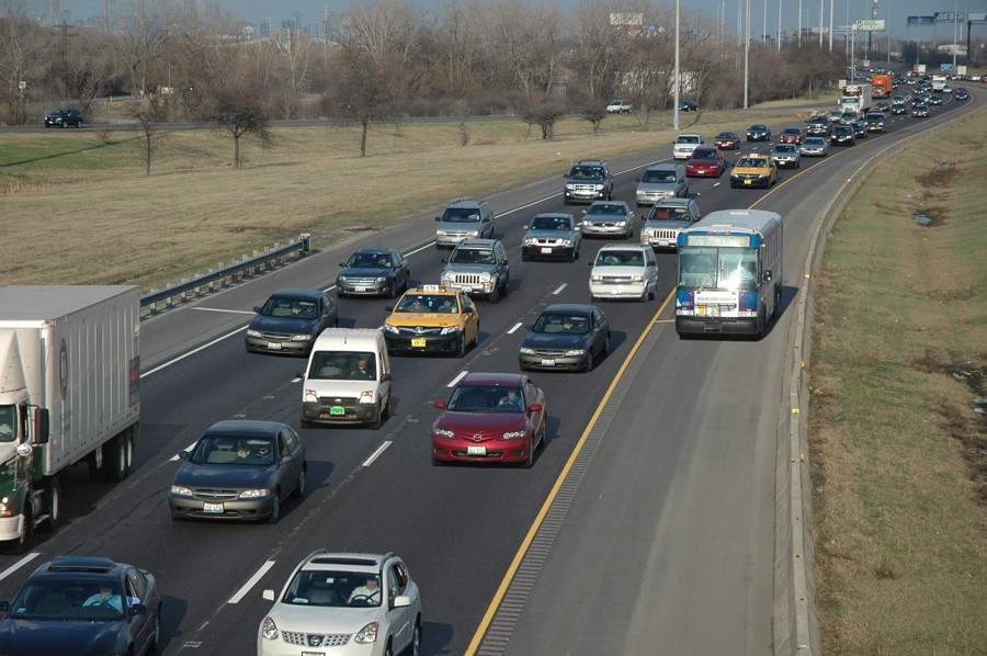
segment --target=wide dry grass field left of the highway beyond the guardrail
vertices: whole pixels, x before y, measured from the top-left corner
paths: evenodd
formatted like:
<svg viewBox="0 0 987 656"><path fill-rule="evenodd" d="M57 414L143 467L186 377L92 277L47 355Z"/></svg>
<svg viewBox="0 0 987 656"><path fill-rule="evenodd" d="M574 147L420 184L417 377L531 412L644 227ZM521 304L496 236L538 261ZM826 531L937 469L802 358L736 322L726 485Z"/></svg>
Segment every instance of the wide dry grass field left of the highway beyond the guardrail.
<svg viewBox="0 0 987 656"><path fill-rule="evenodd" d="M746 127L733 115L683 121L710 136ZM360 158L352 128L277 128L274 148L245 146L240 171L229 167L228 137L181 131L161 142L149 178L129 133L4 135L0 233L16 235L19 248L0 261L0 280L132 283L147 292L299 233L324 248L452 199L560 176L576 159L613 159L673 138L668 117L647 129L634 117L608 118L597 136L585 121L563 121L551 142L520 121L466 129L464 147L454 123L381 127Z"/></svg>

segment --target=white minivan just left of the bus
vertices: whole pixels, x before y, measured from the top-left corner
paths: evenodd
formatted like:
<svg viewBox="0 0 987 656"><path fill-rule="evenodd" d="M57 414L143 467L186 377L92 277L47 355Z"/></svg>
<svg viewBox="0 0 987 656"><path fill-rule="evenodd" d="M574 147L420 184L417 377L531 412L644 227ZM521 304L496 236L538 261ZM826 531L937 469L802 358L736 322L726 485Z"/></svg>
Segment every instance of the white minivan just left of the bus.
<svg viewBox="0 0 987 656"><path fill-rule="evenodd" d="M655 251L647 245L608 244L587 262L590 272L590 298L637 298L642 303L658 291Z"/></svg>

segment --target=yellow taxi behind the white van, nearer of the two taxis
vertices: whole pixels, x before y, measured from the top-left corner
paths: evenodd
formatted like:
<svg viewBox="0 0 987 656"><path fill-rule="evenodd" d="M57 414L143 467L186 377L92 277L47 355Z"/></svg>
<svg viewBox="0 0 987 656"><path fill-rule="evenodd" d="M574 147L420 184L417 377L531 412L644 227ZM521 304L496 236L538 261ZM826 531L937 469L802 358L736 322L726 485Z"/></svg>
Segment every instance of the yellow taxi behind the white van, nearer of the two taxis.
<svg viewBox="0 0 987 656"><path fill-rule="evenodd" d="M422 285L405 292L384 323L390 353L453 353L462 357L476 346L479 315L464 292Z"/></svg>

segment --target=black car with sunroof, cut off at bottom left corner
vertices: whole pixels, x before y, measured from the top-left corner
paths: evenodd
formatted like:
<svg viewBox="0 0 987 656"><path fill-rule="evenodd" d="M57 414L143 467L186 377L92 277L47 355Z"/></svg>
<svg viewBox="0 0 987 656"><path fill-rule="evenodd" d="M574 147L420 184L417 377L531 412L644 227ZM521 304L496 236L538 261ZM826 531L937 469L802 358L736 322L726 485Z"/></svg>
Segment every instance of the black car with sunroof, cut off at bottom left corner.
<svg viewBox="0 0 987 656"><path fill-rule="evenodd" d="M0 654L133 654L157 651L161 597L138 567L56 556L13 601L0 601Z"/></svg>

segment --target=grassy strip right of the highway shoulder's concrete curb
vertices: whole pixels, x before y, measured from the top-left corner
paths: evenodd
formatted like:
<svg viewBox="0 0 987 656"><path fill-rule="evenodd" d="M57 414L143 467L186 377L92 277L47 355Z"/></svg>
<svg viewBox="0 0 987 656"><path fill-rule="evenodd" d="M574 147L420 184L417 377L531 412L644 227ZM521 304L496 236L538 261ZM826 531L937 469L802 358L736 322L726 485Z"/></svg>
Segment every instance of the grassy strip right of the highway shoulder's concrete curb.
<svg viewBox="0 0 987 656"><path fill-rule="evenodd" d="M916 143L827 239L810 439L829 656L987 654L985 145L983 114Z"/></svg>

